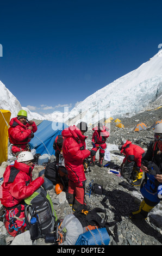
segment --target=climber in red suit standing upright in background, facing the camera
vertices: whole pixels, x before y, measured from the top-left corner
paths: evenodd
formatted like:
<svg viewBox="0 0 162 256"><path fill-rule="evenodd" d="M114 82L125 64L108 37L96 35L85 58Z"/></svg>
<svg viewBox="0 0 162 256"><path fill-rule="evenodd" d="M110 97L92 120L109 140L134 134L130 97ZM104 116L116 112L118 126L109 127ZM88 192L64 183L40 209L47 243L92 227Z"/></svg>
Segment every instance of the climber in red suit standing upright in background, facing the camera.
<svg viewBox="0 0 162 256"><path fill-rule="evenodd" d="M92 145L94 146L91 149L91 165L95 165L96 152L99 149L99 166L103 166L103 158L107 144L105 143L110 133L108 128L105 127L102 123L98 123L98 126L94 127L94 133L92 135Z"/></svg>

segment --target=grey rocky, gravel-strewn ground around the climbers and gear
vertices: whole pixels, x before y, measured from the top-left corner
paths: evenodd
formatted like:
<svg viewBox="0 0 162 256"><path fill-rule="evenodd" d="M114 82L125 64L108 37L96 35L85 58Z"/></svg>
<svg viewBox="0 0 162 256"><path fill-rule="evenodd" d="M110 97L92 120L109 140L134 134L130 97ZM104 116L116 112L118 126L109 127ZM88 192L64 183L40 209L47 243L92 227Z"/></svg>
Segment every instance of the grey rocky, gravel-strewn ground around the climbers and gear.
<svg viewBox="0 0 162 256"><path fill-rule="evenodd" d="M151 129L153 123L162 119L162 108L156 111L146 111L135 115L132 118L120 119L124 125L124 129L115 127L114 121L110 124L110 136L107 140L108 150L110 151L111 163L121 164L123 156L120 155L118 145L121 140L128 139L134 144L147 150L148 143L153 139L154 130ZM133 129L138 123L145 123L148 127L147 130L141 132L134 132ZM92 131L87 132L87 147L91 149ZM96 157L97 159L98 157ZM107 161L104 161L104 164ZM36 166L33 171L34 179L38 176L39 171L42 169ZM161 203L156 206L149 214L146 221L131 222L129 214L131 211L138 210L139 204L142 200L140 188L128 190L120 185L120 182L125 181L121 176L111 174L110 168L98 167L97 163L94 167L90 167L90 171L86 173L86 202L91 206L91 209L99 207L106 209L108 222L117 222L117 234L119 241L115 241L114 227L110 228L110 245L161 245L162 244L162 217ZM90 182L97 183L103 186L103 194L98 195L95 193L89 194ZM68 205L65 192L61 192L57 196L54 188L49 191L52 198L54 209L57 212L58 218L64 217L72 213L71 207ZM0 243L4 245L10 243L10 237L5 233L4 225L0 222ZM43 239L36 240L33 245L45 245Z"/></svg>

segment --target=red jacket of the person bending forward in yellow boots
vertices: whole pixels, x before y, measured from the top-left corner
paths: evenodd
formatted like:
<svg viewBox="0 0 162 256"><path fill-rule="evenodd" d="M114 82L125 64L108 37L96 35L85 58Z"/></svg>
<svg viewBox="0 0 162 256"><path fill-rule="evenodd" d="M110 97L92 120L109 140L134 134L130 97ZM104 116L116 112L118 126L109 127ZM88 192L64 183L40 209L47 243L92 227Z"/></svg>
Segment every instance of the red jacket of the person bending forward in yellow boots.
<svg viewBox="0 0 162 256"><path fill-rule="evenodd" d="M126 155L123 159L123 163L125 163L126 160L128 160L128 162L134 161L136 163L136 166L141 167L142 155L145 153L144 149L142 149L138 145L132 144L132 142L130 141L127 141L125 144L122 145L121 153Z"/></svg>

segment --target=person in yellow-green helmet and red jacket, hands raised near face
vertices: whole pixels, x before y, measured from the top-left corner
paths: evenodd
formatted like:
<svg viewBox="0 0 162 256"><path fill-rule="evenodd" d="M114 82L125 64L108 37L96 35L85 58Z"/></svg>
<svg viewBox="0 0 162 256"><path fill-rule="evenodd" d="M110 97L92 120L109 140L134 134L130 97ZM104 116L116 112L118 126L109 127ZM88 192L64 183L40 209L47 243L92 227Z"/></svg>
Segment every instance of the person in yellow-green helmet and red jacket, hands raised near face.
<svg viewBox="0 0 162 256"><path fill-rule="evenodd" d="M20 110L17 117L10 120L8 129L9 141L13 144L11 151L17 156L21 151L30 151L28 143L34 137L37 126L34 121L27 120L27 112Z"/></svg>

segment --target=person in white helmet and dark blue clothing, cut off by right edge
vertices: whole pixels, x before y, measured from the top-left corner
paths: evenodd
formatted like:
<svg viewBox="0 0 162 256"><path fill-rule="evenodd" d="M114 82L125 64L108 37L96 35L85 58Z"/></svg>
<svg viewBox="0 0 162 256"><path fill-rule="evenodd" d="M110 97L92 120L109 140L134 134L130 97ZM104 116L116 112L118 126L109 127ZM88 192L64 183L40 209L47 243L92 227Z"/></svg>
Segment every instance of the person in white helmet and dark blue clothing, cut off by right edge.
<svg viewBox="0 0 162 256"><path fill-rule="evenodd" d="M130 214L132 220L145 220L149 212L162 200L162 123L155 126L154 141L142 158L141 170L145 179L140 192L144 197L139 210Z"/></svg>

